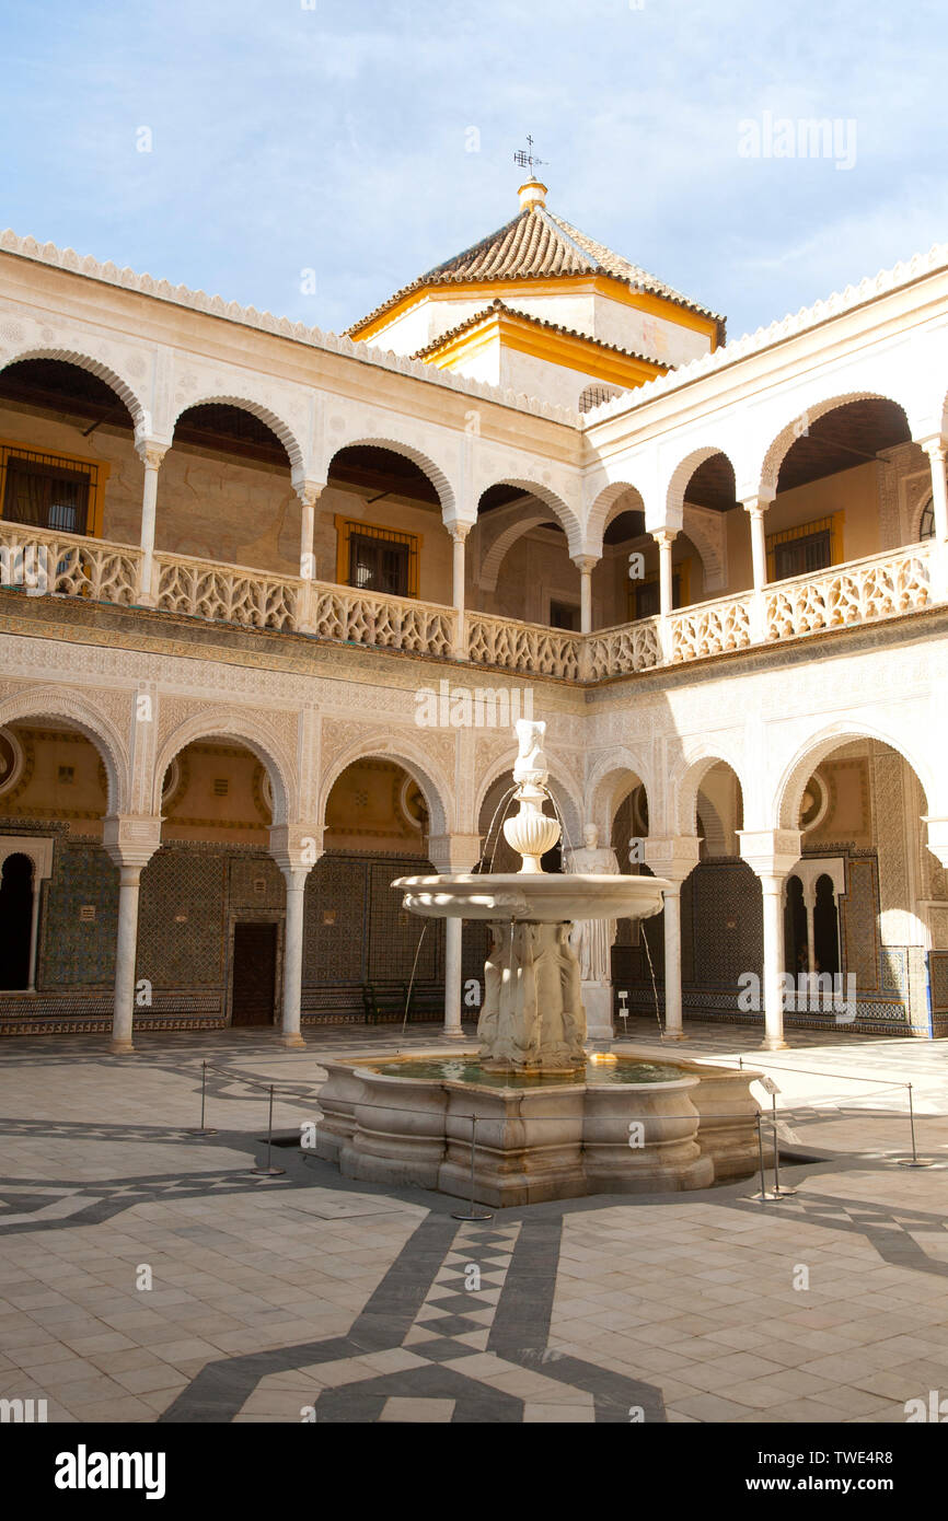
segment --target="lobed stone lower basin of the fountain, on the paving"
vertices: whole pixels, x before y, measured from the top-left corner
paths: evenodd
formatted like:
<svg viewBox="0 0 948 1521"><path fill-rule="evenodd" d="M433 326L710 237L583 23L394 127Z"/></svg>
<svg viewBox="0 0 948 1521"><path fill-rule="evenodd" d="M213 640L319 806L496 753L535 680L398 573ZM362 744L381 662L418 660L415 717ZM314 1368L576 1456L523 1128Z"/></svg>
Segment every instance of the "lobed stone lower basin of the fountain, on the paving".
<svg viewBox="0 0 948 1521"><path fill-rule="evenodd" d="M324 1065L317 1154L367 1182L470 1197L472 1129L473 1197L495 1208L709 1188L756 1159L759 1074L654 1048L578 1075L478 1071L476 1051Z"/></svg>

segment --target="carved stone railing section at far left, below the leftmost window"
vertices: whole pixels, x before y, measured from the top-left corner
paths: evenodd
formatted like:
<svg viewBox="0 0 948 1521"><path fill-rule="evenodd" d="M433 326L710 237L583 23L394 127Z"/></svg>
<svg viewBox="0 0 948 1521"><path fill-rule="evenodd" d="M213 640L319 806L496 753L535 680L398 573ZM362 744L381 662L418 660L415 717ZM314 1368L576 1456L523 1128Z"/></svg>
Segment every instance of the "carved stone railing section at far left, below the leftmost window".
<svg viewBox="0 0 948 1521"><path fill-rule="evenodd" d="M32 595L52 592L129 607L140 558L142 552L126 545L0 522L0 584Z"/></svg>

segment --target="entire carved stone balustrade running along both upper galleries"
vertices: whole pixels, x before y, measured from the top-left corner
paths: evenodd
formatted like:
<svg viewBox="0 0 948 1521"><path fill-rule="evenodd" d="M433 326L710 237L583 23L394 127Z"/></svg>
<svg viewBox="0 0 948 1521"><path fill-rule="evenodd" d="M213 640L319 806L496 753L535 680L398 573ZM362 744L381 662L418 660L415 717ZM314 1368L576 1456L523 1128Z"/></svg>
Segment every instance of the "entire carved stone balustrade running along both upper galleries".
<svg viewBox="0 0 948 1521"><path fill-rule="evenodd" d="M744 649L759 642L755 611L768 643L898 618L937 601L931 554L925 541L779 581L764 587L761 608L755 608L753 592L677 608L665 621L665 631L660 618L575 634L467 611L467 657L472 665L517 675L595 681ZM160 611L437 659L458 654L458 613L438 602L379 596L189 555L158 552L154 561ZM140 601L140 575L142 551L129 545L0 520L5 587L132 607Z"/></svg>

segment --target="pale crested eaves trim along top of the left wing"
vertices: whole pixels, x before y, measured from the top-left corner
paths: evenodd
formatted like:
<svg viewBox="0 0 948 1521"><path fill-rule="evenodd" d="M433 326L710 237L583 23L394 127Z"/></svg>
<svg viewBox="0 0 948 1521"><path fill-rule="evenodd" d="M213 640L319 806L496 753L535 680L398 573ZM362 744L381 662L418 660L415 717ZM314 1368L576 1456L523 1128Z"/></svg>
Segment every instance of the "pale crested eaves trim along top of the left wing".
<svg viewBox="0 0 948 1521"><path fill-rule="evenodd" d="M140 275L128 266L119 269L111 260L99 263L91 254L81 257L73 248L58 248L55 243L38 243L35 237L20 237L12 228L0 233L0 252L15 254L18 259L33 259L37 263L53 265L58 269L68 269L72 274L84 275L87 280L102 280L105 284L122 286L125 291L137 291L140 295L154 297L157 301L187 306L195 312L219 316L225 322L256 327L265 333L275 333L278 338L289 338L295 344L307 344L310 348L321 348L330 354L344 354L359 364L376 365L379 370L394 370L399 374L426 380L428 385L441 386L447 391L461 391L466 395L481 397L484 402L495 402L499 406L510 406L519 412L548 418L551 423L563 423L566 427L578 429L581 424L580 414L571 408L554 406L551 402L542 402L539 397L526 395L522 391L511 391L504 386L487 385L484 380L473 380L452 371L437 370L420 359L409 359L391 350L374 348L365 342L353 342L352 338L323 332L320 327L307 327L304 322L291 322L288 316L274 316L272 312L257 312L254 306L225 301L224 297L207 295L205 291L192 291L184 284L172 286L167 280L154 280L148 274Z"/></svg>

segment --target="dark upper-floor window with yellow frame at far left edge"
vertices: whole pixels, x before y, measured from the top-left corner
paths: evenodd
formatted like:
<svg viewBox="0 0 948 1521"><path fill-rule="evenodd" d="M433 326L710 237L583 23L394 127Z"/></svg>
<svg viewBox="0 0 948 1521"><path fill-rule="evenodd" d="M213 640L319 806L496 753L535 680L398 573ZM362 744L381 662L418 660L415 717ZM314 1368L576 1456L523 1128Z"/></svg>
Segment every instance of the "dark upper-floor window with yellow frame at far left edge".
<svg viewBox="0 0 948 1521"><path fill-rule="evenodd" d="M100 532L107 475L93 461L0 444L0 511L9 523L58 534Z"/></svg>

